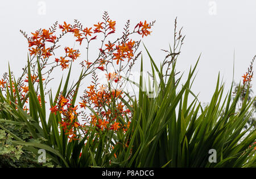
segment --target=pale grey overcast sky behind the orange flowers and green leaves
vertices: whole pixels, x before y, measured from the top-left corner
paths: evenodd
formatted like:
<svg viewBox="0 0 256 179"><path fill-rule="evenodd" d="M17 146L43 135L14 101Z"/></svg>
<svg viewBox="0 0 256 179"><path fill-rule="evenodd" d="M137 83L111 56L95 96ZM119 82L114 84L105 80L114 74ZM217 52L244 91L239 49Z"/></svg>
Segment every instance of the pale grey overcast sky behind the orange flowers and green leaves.
<svg viewBox="0 0 256 179"><path fill-rule="evenodd" d="M228 90L232 82L233 59L235 59L236 82L242 80L250 61L256 55L256 1L219 0L219 1L1 1L0 3L0 72L1 76L7 72L8 63L15 77L22 73L26 64L28 44L19 30L35 32L39 28L48 28L56 20L73 23L80 20L84 27L93 27L101 21L104 11L108 11L110 18L117 22L117 34L122 32L126 21L130 19L131 30L139 21L156 20L151 28L152 34L142 41L151 53L156 64L160 65L166 53L160 49L168 49L173 43L174 19L177 16L177 26L183 27L186 35L181 55L177 62L177 70L188 73L201 53L197 78L192 90L199 99L208 102L216 85L216 78L220 72ZM137 36L138 38L138 36ZM115 40L115 39L109 39ZM62 49L65 46L73 47L75 40L60 41ZM75 47L79 47L75 44ZM149 59L143 48L145 69L150 69ZM84 51L83 51L84 50ZM80 50L86 53L85 49ZM235 52L235 57L234 57ZM90 54L93 56L93 54ZM97 54L96 54L97 55ZM54 57L52 57L54 60ZM80 61L77 60L77 64ZM254 65L255 66L255 65ZM133 71L139 70L139 61ZM56 70L52 81L53 89L57 88L61 76L68 70ZM80 74L80 69L72 71L72 80ZM0 77L1 79L1 77ZM89 85L84 81L81 91ZM252 82L255 90L255 80ZM225 90L225 91L226 91Z"/></svg>

